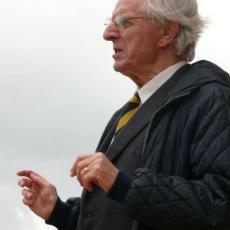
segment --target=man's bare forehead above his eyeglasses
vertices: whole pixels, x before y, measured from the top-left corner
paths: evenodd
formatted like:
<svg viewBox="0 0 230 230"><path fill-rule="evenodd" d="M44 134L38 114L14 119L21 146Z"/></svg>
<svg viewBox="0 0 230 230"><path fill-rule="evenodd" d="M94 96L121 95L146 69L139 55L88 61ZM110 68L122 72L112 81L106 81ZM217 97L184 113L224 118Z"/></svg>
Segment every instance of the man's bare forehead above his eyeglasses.
<svg viewBox="0 0 230 230"><path fill-rule="evenodd" d="M113 15L132 14L140 10L145 0L119 0L113 10Z"/></svg>

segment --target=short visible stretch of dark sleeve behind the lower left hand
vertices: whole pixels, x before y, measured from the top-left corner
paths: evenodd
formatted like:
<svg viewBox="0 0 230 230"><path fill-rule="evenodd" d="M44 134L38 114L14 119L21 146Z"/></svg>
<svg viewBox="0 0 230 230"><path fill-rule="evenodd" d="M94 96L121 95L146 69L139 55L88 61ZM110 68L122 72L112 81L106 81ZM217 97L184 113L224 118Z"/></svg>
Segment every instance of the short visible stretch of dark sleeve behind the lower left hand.
<svg viewBox="0 0 230 230"><path fill-rule="evenodd" d="M50 218L46 224L55 226L58 230L75 230L80 213L80 198L69 198L63 202L59 197Z"/></svg>

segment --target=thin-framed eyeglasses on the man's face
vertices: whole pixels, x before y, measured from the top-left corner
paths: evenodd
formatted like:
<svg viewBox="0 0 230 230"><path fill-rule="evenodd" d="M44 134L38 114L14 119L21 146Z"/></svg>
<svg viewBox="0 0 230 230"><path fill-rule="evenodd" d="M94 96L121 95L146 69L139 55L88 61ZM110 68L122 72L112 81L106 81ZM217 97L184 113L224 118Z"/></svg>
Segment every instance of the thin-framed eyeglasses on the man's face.
<svg viewBox="0 0 230 230"><path fill-rule="evenodd" d="M115 24L115 26L120 29L124 30L131 26L133 23L131 22L132 20L135 19L142 19L144 17L130 17L130 16L116 16L114 19L112 18L106 18L104 25L105 26L110 26L111 24Z"/></svg>

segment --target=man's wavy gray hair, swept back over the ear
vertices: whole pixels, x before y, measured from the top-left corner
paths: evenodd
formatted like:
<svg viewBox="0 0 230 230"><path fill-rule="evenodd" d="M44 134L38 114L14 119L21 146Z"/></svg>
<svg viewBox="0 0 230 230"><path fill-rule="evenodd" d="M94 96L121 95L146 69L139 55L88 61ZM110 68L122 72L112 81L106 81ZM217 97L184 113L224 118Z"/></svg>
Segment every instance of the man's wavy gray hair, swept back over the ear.
<svg viewBox="0 0 230 230"><path fill-rule="evenodd" d="M194 59L196 43L205 26L196 0L145 0L142 11L163 25L178 22L180 29L174 42L177 55L186 61Z"/></svg>

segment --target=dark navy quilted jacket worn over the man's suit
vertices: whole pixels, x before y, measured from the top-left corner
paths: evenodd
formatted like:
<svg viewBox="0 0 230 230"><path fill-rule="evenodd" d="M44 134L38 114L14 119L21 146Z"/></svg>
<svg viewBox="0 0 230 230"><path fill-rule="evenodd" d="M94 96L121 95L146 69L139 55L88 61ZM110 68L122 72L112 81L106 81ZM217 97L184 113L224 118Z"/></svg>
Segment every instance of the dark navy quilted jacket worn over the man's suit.
<svg viewBox="0 0 230 230"><path fill-rule="evenodd" d="M207 61L179 71L159 89L167 96L151 115L143 167L120 173L108 194L132 218L127 230L230 229L229 75ZM48 223L76 229L79 211L79 198L59 199Z"/></svg>

